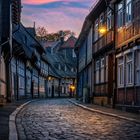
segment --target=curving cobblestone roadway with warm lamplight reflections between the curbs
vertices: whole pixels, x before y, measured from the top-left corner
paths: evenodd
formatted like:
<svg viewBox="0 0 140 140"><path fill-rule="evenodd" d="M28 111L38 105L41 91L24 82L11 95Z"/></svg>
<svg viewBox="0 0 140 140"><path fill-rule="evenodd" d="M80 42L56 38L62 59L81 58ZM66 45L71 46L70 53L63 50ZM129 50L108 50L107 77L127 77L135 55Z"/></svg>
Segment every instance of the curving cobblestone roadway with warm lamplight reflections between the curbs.
<svg viewBox="0 0 140 140"><path fill-rule="evenodd" d="M84 110L66 99L31 103L16 124L19 140L140 140L140 124Z"/></svg>

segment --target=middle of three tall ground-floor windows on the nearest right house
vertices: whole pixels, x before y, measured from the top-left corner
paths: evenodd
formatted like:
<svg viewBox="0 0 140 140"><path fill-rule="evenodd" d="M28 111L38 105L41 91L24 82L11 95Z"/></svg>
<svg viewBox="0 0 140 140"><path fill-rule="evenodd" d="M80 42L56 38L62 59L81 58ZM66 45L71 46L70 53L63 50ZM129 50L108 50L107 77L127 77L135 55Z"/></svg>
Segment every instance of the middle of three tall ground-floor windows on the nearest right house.
<svg viewBox="0 0 140 140"><path fill-rule="evenodd" d="M133 83L133 54L126 55L126 83L130 85Z"/></svg>

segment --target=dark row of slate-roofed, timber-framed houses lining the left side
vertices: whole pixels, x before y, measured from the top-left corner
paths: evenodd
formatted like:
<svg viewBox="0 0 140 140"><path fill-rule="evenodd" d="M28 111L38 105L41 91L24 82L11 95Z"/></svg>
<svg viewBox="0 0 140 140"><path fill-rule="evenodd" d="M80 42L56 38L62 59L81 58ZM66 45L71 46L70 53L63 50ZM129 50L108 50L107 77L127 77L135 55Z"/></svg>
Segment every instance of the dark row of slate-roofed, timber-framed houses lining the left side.
<svg viewBox="0 0 140 140"><path fill-rule="evenodd" d="M0 103L46 97L48 62L35 28L20 23L20 0L0 1L0 6Z"/></svg>

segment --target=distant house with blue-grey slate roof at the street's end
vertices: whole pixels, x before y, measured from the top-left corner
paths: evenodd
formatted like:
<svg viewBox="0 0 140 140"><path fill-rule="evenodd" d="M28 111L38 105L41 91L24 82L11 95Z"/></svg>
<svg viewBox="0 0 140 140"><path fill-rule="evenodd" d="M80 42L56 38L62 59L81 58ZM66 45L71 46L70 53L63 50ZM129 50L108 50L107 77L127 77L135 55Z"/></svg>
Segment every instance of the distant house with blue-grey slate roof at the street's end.
<svg viewBox="0 0 140 140"><path fill-rule="evenodd" d="M61 40L62 41L62 40ZM72 96L76 86L76 55L74 45L76 38L71 36L64 43L61 41L44 41L46 57L50 64L48 77L48 96Z"/></svg>

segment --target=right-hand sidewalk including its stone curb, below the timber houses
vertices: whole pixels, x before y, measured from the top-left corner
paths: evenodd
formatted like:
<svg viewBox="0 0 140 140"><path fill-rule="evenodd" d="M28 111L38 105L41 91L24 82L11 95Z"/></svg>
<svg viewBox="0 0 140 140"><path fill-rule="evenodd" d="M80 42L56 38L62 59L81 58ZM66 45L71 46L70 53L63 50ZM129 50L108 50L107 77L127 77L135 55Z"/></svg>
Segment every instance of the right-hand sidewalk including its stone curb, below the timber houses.
<svg viewBox="0 0 140 140"><path fill-rule="evenodd" d="M86 103L80 102L76 99L69 99L69 101L79 107L82 107L82 108L92 111L92 112L97 112L97 113L100 113L103 115L108 115L108 116L112 116L112 117L117 117L119 119L125 119L128 121L140 123L140 114L129 113L129 112L125 112L122 110L102 107L102 106L94 105L94 104L86 104Z"/></svg>

